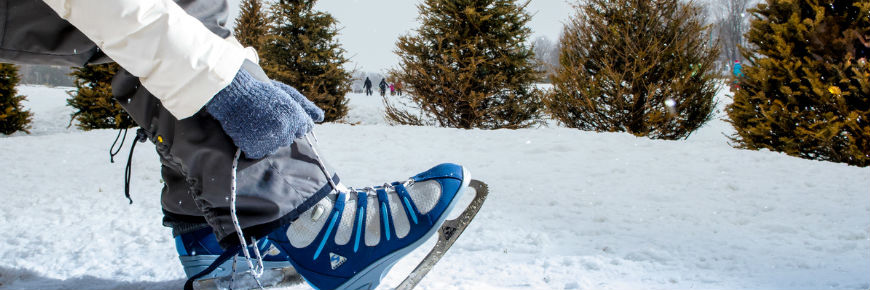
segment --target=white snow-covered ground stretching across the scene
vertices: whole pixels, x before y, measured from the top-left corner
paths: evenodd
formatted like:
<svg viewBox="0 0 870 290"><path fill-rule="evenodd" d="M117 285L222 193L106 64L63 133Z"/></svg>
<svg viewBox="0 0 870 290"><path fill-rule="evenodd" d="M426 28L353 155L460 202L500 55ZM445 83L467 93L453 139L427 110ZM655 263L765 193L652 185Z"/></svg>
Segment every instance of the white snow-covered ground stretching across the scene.
<svg viewBox="0 0 870 290"><path fill-rule="evenodd" d="M20 91L35 122L31 135L0 137L0 288L181 288L153 147L134 154L128 205L129 139L109 163L116 131L67 129L63 89ZM316 128L343 182L381 184L449 161L491 186L420 289L870 288L870 168L737 150L721 120L685 141L391 127L379 97L349 97L357 125Z"/></svg>

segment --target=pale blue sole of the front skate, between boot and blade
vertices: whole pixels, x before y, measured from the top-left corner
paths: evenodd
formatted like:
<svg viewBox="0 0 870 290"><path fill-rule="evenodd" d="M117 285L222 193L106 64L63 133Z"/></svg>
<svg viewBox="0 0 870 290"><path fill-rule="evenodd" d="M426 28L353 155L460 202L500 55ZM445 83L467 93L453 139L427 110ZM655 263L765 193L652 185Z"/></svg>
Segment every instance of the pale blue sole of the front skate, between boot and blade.
<svg viewBox="0 0 870 290"><path fill-rule="evenodd" d="M462 195L465 194L465 189L468 187L468 184L471 182L471 173L468 172L465 167L462 168L462 184L459 187L459 191L456 193L456 196L453 197L453 200L447 205L447 210L444 211L444 214L438 218L438 221L435 223L435 226L432 227L431 230L426 232L423 237L421 237L416 242L411 243L410 245L405 246L395 252L380 258L376 262L372 263L362 271L360 274L357 274L344 284L338 286L337 290L358 290L358 289L374 289L380 284L381 279L390 269L395 265L399 260L405 257L411 251L417 249L420 245L425 243L432 237L436 232L441 229L441 225L444 224L444 221L447 219L447 216L453 210L453 207L459 202L462 198ZM424 259L425 261L425 259ZM425 275L425 273L424 273ZM422 279L422 277L420 277ZM416 283L415 283L416 284ZM313 285L312 285L313 286ZM413 286L412 286L413 287Z"/></svg>

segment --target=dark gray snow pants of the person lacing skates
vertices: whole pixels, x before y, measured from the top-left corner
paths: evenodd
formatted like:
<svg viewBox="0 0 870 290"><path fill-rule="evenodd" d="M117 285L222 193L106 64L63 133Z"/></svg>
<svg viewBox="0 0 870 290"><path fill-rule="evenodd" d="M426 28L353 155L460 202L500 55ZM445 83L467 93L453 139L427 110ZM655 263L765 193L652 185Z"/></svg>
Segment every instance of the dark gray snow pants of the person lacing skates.
<svg viewBox="0 0 870 290"><path fill-rule="evenodd" d="M225 0L176 2L213 33L230 36ZM42 1L0 0L0 62L84 66L111 59ZM112 81L112 93L157 148L165 181L164 225L176 235L211 226L223 246L238 244L229 199L237 147L218 121L205 109L176 119L123 69ZM265 236L329 193L314 146L302 138L264 159L239 160L236 209L246 236ZM338 183L338 176L332 178Z"/></svg>

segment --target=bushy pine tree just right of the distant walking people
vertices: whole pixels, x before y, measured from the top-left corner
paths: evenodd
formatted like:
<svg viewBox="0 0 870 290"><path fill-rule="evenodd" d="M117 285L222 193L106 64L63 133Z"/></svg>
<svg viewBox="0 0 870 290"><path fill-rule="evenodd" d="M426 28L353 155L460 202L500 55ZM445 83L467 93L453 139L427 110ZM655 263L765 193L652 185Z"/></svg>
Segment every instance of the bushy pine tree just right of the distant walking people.
<svg viewBox="0 0 870 290"><path fill-rule="evenodd" d="M385 99L394 123L455 128L523 128L541 115L540 80L526 44L529 1L424 0L420 28L399 38L391 80L405 100ZM408 110L408 107L411 110ZM418 111L416 114L414 111Z"/></svg>

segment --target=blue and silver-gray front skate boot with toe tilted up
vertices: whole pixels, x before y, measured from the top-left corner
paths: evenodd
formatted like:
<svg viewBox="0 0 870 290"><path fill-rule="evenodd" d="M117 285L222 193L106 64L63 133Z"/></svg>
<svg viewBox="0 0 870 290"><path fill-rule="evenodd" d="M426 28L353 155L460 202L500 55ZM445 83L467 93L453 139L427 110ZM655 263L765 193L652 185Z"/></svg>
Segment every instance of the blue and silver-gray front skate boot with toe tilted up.
<svg viewBox="0 0 870 290"><path fill-rule="evenodd" d="M399 259L439 231L470 181L463 167L441 164L403 182L362 190L339 185L268 238L316 289L373 289Z"/></svg>

